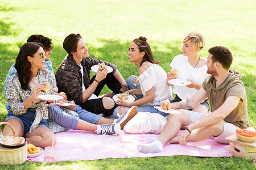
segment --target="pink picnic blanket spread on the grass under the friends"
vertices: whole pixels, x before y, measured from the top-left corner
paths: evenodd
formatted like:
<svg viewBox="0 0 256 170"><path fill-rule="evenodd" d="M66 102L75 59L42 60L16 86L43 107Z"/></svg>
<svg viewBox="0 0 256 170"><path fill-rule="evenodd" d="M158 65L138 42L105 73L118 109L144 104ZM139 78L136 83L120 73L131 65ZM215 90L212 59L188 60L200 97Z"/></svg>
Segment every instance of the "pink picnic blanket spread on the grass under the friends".
<svg viewBox="0 0 256 170"><path fill-rule="evenodd" d="M182 131L180 130L180 133ZM137 143L144 143L146 135L151 134L128 134L122 130L119 135L98 135L88 131L69 129L56 134L57 144L54 147L56 160L143 158L174 155L223 157L233 155L229 152L229 145L222 145L214 139L207 139L203 142L188 142L185 146L179 144L164 145L164 151L161 153L143 154L137 151ZM27 160L44 162L44 152Z"/></svg>

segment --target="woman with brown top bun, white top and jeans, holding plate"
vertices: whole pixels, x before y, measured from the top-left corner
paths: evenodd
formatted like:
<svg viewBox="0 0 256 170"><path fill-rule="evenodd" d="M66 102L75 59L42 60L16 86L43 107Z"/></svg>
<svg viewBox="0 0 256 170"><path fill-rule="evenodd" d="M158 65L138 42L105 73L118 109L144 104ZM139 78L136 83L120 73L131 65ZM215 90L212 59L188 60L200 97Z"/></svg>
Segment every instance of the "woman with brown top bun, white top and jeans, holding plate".
<svg viewBox="0 0 256 170"><path fill-rule="evenodd" d="M127 83L130 90L125 93L143 97L131 103L125 100L118 100L119 103L117 105L123 107L115 108L113 112L114 118L126 113L134 105L138 106L138 112L159 113L166 116L167 113L158 111L155 106L160 106L163 100L172 100L172 90L166 83L166 71L158 65L159 61L154 59L146 37L141 36L131 42L128 55L129 61L134 62L139 67L138 80L141 88L133 88ZM135 76L130 76L129 78L133 78L136 82L137 78Z"/></svg>

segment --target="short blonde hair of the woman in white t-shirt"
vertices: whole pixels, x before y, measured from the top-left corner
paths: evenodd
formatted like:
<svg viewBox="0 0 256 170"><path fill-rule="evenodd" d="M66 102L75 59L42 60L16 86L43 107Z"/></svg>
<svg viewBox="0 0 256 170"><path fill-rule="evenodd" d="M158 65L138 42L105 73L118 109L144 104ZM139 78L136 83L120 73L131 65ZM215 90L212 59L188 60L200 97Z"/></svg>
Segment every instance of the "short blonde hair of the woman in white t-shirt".
<svg viewBox="0 0 256 170"><path fill-rule="evenodd" d="M197 33L197 32L191 32L191 33L188 33L184 39L183 39L183 43L185 43L186 41L188 40L191 40L192 42L192 47L193 48L197 48L199 47L200 50L202 48L204 48L205 46L205 40L204 40L204 36L201 35L200 33Z"/></svg>

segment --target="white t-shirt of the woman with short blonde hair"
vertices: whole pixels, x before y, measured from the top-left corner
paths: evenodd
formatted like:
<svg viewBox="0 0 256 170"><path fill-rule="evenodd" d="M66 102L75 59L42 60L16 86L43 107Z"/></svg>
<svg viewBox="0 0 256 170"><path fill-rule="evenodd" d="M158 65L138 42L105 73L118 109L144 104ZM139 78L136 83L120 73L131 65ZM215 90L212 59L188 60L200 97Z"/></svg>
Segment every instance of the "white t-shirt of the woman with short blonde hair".
<svg viewBox="0 0 256 170"><path fill-rule="evenodd" d="M194 68L188 62L188 57L183 56L183 54L175 56L174 59L172 59L170 66L172 69L178 70L179 76L177 78L186 80L191 79L199 84L202 84L204 79L209 75L207 74L207 65L200 68ZM196 88L188 88L186 86L174 86L172 91L182 100L192 97L197 92Z"/></svg>

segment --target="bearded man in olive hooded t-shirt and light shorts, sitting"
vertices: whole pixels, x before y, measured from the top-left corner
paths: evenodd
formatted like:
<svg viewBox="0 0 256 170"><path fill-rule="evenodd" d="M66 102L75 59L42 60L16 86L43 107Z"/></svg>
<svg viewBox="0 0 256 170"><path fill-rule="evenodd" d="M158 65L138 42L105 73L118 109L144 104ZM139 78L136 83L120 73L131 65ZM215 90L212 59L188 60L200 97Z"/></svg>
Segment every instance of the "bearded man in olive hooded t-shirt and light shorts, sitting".
<svg viewBox="0 0 256 170"><path fill-rule="evenodd" d="M180 114L171 114L159 137L148 136L146 143L138 144L137 150L144 153L162 152L169 142L185 145L188 142L204 141L212 137L217 142L226 143L229 135L236 129L249 126L245 87L241 73L230 70L232 54L224 46L214 46L205 63L210 74L202 88L190 99L171 103L172 109L179 109ZM212 108L209 114L188 111L208 97ZM181 127L185 130L177 135Z"/></svg>

